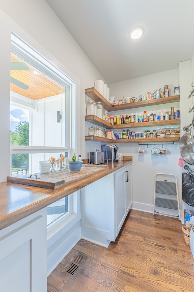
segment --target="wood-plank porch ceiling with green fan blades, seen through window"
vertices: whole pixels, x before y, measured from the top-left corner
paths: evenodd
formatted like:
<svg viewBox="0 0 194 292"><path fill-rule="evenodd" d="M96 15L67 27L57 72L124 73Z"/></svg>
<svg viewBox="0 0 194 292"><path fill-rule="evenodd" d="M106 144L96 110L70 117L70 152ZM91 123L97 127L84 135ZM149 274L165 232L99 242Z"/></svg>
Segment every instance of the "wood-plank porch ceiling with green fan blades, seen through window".
<svg viewBox="0 0 194 292"><path fill-rule="evenodd" d="M59 85L13 53L11 53L11 62L23 62L29 68L29 70L11 70L11 77L29 86L28 89L22 89L19 86L10 83L11 91L34 100L65 92L63 86ZM39 75L35 75L33 71L39 73Z"/></svg>

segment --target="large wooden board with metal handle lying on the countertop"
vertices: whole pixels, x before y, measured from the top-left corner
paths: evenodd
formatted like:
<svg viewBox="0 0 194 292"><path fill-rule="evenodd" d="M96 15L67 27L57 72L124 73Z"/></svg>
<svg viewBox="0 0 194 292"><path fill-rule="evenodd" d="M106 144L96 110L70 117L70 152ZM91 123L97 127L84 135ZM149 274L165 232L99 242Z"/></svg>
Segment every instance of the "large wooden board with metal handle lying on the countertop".
<svg viewBox="0 0 194 292"><path fill-rule="evenodd" d="M91 174L98 173L103 169L107 169L108 165L82 165L79 172L69 172L68 169L62 169L49 173L34 173L31 175L8 176L7 182L19 183L28 186L37 186L45 189L55 189L65 186L78 179L84 179ZM37 176L37 178L35 177Z"/></svg>

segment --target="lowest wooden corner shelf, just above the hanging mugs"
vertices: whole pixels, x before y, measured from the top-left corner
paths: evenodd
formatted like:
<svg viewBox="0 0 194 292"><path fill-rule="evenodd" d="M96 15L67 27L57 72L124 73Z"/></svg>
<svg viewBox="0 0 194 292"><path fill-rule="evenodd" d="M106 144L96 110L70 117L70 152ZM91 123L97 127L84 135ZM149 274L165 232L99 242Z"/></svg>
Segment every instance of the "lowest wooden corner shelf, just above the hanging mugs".
<svg viewBox="0 0 194 292"><path fill-rule="evenodd" d="M170 142L178 142L180 137L173 137L173 138L136 138L136 139L107 139L98 136L85 136L85 141L96 141L102 143L156 143L162 144L163 143L170 143Z"/></svg>

